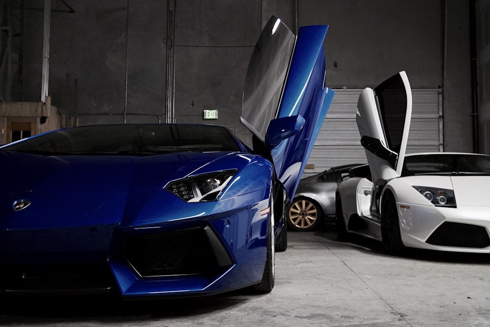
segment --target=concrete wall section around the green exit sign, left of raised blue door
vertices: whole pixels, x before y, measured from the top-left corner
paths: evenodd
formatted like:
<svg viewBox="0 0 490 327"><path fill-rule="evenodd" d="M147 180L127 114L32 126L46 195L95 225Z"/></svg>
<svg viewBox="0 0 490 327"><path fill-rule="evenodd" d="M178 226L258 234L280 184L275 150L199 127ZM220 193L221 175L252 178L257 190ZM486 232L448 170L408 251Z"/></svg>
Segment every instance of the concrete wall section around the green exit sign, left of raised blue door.
<svg viewBox="0 0 490 327"><path fill-rule="evenodd" d="M176 2L175 121L220 124L245 137L239 116L248 58L262 30L261 1L195 4ZM209 109L219 110L218 120L203 120Z"/></svg>

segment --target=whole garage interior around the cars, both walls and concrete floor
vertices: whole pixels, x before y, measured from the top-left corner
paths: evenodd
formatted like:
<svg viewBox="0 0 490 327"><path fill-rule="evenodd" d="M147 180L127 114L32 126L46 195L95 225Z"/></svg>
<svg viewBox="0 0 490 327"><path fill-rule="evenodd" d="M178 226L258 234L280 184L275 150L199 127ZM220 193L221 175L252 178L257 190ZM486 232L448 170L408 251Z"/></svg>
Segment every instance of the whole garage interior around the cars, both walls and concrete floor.
<svg viewBox="0 0 490 327"><path fill-rule="evenodd" d="M305 175L366 161L357 97L400 70L414 96L408 152L490 154L489 0L1 0L1 9L0 144L135 122L212 123L246 140L248 58L275 15L293 32L329 25L326 85L336 95ZM329 229L289 238L268 295L123 309L15 302L0 309L0 325L490 325L488 256L391 257Z"/></svg>

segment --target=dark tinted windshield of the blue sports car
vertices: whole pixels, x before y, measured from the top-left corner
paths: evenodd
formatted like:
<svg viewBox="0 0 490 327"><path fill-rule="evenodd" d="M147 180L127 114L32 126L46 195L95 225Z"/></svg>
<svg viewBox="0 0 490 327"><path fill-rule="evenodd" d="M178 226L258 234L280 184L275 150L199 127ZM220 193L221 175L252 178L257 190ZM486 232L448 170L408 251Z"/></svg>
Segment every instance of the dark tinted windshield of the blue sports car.
<svg viewBox="0 0 490 327"><path fill-rule="evenodd" d="M61 154L151 154L179 151L241 151L224 127L186 124L124 124L74 127L25 139L0 150Z"/></svg>

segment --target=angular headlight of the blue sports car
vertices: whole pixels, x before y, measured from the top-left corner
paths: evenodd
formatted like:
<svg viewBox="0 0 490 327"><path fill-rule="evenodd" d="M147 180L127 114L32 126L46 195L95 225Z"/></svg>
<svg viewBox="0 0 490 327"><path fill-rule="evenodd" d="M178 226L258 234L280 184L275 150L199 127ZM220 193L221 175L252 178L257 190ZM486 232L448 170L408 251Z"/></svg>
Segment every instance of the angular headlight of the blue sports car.
<svg viewBox="0 0 490 327"><path fill-rule="evenodd" d="M237 169L185 177L164 187L185 202L215 201Z"/></svg>

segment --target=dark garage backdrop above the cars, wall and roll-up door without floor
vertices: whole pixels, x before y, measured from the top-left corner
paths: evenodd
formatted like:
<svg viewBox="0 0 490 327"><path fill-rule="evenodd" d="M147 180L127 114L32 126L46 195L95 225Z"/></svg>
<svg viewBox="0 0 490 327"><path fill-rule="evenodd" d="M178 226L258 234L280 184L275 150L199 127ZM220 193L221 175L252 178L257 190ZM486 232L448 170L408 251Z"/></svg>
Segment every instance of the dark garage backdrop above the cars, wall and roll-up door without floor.
<svg viewBox="0 0 490 327"><path fill-rule="evenodd" d="M55 109L14 109L36 120L34 132L44 122L205 122L246 139L246 66L275 15L293 32L329 25L326 85L337 96L305 174L362 161L358 93L400 70L414 93L409 151L489 153L488 13L483 0L3 0L0 123L7 135L15 113L5 106L42 102Z"/></svg>

